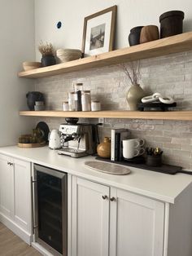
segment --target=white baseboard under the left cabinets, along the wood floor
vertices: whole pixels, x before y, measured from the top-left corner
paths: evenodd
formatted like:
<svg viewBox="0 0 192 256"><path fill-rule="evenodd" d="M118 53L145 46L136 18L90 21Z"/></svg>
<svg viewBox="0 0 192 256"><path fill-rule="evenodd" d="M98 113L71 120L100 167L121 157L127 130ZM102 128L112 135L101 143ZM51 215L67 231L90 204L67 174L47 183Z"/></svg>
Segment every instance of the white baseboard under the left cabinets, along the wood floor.
<svg viewBox="0 0 192 256"><path fill-rule="evenodd" d="M3 214L0 214L0 222L14 232L15 235L19 236L25 243L31 245L32 235L24 231L24 229L18 226L17 223L14 223L10 218L7 218L7 216Z"/></svg>

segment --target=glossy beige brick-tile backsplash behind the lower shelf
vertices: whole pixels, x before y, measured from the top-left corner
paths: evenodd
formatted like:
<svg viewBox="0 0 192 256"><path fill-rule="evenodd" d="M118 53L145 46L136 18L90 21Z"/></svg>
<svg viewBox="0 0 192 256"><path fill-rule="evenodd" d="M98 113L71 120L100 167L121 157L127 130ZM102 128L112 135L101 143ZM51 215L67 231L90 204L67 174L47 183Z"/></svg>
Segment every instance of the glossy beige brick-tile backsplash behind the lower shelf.
<svg viewBox="0 0 192 256"><path fill-rule="evenodd" d="M47 109L61 110L73 82L83 82L84 90L91 90L92 97L99 99L105 110L129 109L125 95L130 84L120 65L37 79L36 90L45 95ZM192 51L142 60L140 84L148 95L170 95L177 101L177 109L191 110ZM64 122L63 118L37 118L42 120L50 130ZM100 139L110 136L114 127L128 128L133 138L142 137L147 146L162 148L164 162L192 170L192 121L105 118L103 127L99 127Z"/></svg>

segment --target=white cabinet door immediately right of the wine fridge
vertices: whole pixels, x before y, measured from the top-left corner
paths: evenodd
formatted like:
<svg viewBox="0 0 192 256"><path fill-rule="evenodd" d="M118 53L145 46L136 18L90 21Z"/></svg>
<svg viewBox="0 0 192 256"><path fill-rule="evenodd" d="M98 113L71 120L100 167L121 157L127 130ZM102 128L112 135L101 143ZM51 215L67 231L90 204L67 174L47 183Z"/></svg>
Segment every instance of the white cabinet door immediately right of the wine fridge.
<svg viewBox="0 0 192 256"><path fill-rule="evenodd" d="M72 256L107 256L109 188L72 177Z"/></svg>

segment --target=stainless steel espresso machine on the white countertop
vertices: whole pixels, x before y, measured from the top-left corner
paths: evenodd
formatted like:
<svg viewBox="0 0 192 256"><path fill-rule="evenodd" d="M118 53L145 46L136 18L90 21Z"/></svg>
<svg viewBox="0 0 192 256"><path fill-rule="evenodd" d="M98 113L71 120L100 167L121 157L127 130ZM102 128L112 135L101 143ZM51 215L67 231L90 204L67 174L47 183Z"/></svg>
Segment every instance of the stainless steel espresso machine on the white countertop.
<svg viewBox="0 0 192 256"><path fill-rule="evenodd" d="M89 124L61 124L59 155L85 157L96 152L94 126Z"/></svg>

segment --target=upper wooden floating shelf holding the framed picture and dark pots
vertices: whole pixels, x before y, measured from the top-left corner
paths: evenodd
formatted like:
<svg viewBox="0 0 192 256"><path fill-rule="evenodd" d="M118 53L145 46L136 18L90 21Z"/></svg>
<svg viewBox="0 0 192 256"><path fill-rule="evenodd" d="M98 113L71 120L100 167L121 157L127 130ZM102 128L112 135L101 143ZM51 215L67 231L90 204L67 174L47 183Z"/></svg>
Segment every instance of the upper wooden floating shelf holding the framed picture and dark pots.
<svg viewBox="0 0 192 256"><path fill-rule="evenodd" d="M88 68L100 68L111 64L120 64L190 50L192 50L192 32L181 33L170 38L146 42L141 45L126 47L116 51L109 51L80 60L22 71L18 75L19 77L28 78L49 77Z"/></svg>

